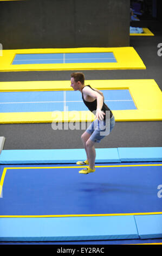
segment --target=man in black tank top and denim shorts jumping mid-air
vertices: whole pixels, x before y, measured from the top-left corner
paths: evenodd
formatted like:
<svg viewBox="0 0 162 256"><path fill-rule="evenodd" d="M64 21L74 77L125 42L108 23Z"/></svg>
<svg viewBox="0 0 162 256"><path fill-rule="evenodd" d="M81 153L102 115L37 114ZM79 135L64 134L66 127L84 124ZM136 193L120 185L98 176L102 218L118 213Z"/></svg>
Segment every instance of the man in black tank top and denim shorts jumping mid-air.
<svg viewBox="0 0 162 256"><path fill-rule="evenodd" d="M83 102L91 112L95 113L95 120L81 136L87 160L76 163L80 166L87 164L88 167L80 170L79 173L88 174L95 172L96 152L94 144L95 142L99 143L102 138L109 135L115 125L115 119L111 109L104 102L103 93L89 85L86 86L85 76L81 72L71 74L70 86L75 91L81 92Z"/></svg>

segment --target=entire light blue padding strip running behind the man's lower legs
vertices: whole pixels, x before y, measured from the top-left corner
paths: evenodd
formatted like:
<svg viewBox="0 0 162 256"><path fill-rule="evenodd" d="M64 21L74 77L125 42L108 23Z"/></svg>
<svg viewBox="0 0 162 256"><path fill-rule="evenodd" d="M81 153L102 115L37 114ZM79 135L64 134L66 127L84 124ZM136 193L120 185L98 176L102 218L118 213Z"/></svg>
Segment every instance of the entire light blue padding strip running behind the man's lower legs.
<svg viewBox="0 0 162 256"><path fill-rule="evenodd" d="M162 161L162 148L110 148L96 149L96 163ZM1 164L12 163L75 163L84 161L84 149L29 149L2 150Z"/></svg>

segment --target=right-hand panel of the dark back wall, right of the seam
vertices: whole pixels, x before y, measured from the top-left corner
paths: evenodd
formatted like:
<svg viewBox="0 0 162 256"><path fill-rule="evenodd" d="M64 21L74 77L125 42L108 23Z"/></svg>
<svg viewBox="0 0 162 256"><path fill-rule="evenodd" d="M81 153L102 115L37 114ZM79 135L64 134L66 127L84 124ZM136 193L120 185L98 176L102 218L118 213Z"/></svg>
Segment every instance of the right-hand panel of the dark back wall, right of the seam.
<svg viewBox="0 0 162 256"><path fill-rule="evenodd" d="M76 0L76 42L80 46L129 46L129 1Z"/></svg>

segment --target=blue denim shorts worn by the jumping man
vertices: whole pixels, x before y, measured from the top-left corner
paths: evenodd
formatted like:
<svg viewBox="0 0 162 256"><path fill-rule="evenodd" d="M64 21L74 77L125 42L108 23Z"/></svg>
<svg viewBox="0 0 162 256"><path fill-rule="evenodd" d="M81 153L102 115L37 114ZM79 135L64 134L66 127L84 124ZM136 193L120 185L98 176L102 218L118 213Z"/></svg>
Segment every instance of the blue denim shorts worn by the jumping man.
<svg viewBox="0 0 162 256"><path fill-rule="evenodd" d="M110 119L102 120L102 121L95 119L92 122L92 124L89 125L86 132L91 134L90 136L91 141L99 143L101 139L109 135L109 133L112 131L114 126L115 126L114 116L112 116L112 118Z"/></svg>

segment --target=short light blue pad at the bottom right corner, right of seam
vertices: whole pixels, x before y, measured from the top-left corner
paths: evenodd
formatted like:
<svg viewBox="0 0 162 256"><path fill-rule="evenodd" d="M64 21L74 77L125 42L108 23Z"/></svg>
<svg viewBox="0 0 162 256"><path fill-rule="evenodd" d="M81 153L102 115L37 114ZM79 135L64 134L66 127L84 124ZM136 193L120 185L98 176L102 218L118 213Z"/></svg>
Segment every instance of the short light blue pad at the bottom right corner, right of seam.
<svg viewBox="0 0 162 256"><path fill-rule="evenodd" d="M162 238L162 215L134 216L140 239Z"/></svg>

